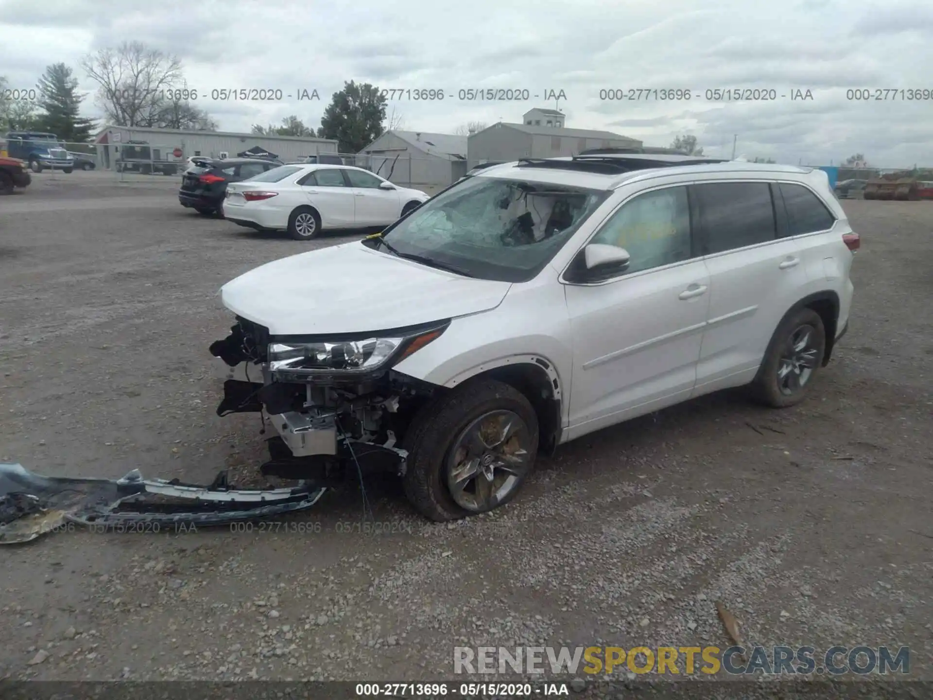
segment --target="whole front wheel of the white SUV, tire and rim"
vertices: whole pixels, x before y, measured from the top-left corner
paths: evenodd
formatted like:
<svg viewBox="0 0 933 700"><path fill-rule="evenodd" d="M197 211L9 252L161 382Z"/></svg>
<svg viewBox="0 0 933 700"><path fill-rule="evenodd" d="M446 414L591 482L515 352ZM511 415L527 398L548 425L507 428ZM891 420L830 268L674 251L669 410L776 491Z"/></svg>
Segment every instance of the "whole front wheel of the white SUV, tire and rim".
<svg viewBox="0 0 933 700"><path fill-rule="evenodd" d="M535 409L522 392L491 379L466 382L412 421L405 494L436 522L492 511L521 489L537 442Z"/></svg>

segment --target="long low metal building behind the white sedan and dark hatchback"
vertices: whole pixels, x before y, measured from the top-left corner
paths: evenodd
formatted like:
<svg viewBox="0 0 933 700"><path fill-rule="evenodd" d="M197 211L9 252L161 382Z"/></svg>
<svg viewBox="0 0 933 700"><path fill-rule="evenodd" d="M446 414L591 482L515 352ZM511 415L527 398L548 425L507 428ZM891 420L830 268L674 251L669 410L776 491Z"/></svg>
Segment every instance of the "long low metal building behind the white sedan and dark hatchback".
<svg viewBox="0 0 933 700"><path fill-rule="evenodd" d="M94 139L98 145L99 167L111 169L118 161L122 144L145 143L153 161L183 161L191 156L235 158L250 148L259 147L283 161L295 161L317 153L336 153L337 142L304 136L257 136L252 133L195 132L174 129L144 129L107 124ZM182 152L174 157L175 148Z"/></svg>

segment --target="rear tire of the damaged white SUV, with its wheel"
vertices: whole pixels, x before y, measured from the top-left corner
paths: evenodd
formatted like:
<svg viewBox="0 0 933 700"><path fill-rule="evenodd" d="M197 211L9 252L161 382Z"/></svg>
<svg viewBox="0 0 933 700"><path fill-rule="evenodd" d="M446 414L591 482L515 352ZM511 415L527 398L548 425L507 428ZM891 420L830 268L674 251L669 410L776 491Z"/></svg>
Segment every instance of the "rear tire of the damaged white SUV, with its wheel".
<svg viewBox="0 0 933 700"><path fill-rule="evenodd" d="M795 351L793 344L802 343L803 332L809 333L806 346ZM801 343L798 343L799 348ZM752 396L773 408L787 408L800 403L809 394L825 355L823 319L813 309L795 311L774 331L759 373L752 382ZM787 371L787 377L779 377L779 371Z"/></svg>

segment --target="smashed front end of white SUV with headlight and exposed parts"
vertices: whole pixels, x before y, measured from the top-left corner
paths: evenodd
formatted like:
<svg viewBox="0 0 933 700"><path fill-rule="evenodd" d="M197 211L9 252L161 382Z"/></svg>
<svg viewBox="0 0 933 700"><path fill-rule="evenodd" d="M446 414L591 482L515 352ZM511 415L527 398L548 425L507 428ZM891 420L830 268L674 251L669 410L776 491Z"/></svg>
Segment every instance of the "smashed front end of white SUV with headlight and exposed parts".
<svg viewBox="0 0 933 700"><path fill-rule="evenodd" d="M334 336L272 336L237 317L210 346L224 365L218 415L269 415L265 476L320 486L372 471L404 473L399 447L411 418L439 387L392 367L447 329L450 321Z"/></svg>

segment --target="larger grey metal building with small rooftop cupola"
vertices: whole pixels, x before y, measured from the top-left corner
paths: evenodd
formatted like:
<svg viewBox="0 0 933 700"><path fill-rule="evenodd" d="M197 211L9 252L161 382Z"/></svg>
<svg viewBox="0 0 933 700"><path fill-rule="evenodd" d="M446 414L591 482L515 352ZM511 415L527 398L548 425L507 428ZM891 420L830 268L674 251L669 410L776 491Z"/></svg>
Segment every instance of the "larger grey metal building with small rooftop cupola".
<svg viewBox="0 0 933 700"><path fill-rule="evenodd" d="M538 114L555 110L531 110L525 121ZM555 112L561 114L560 112ZM567 129L562 118L552 117L551 123L559 121L561 126L531 123L512 124L500 121L481 132L468 137L467 157L470 168L483 162L508 162L520 158L559 158L576 156L590 148L640 148L638 139L619 133L594 131L591 129Z"/></svg>

